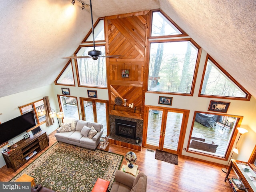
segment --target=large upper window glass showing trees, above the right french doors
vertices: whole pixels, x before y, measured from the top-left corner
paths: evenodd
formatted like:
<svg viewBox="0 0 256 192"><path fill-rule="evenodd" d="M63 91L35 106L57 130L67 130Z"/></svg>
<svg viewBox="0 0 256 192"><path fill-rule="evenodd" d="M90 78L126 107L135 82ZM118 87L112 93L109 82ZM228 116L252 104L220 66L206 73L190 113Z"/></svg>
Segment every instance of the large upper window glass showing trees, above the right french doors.
<svg viewBox="0 0 256 192"><path fill-rule="evenodd" d="M190 41L151 43L148 90L190 94L197 56Z"/></svg>

